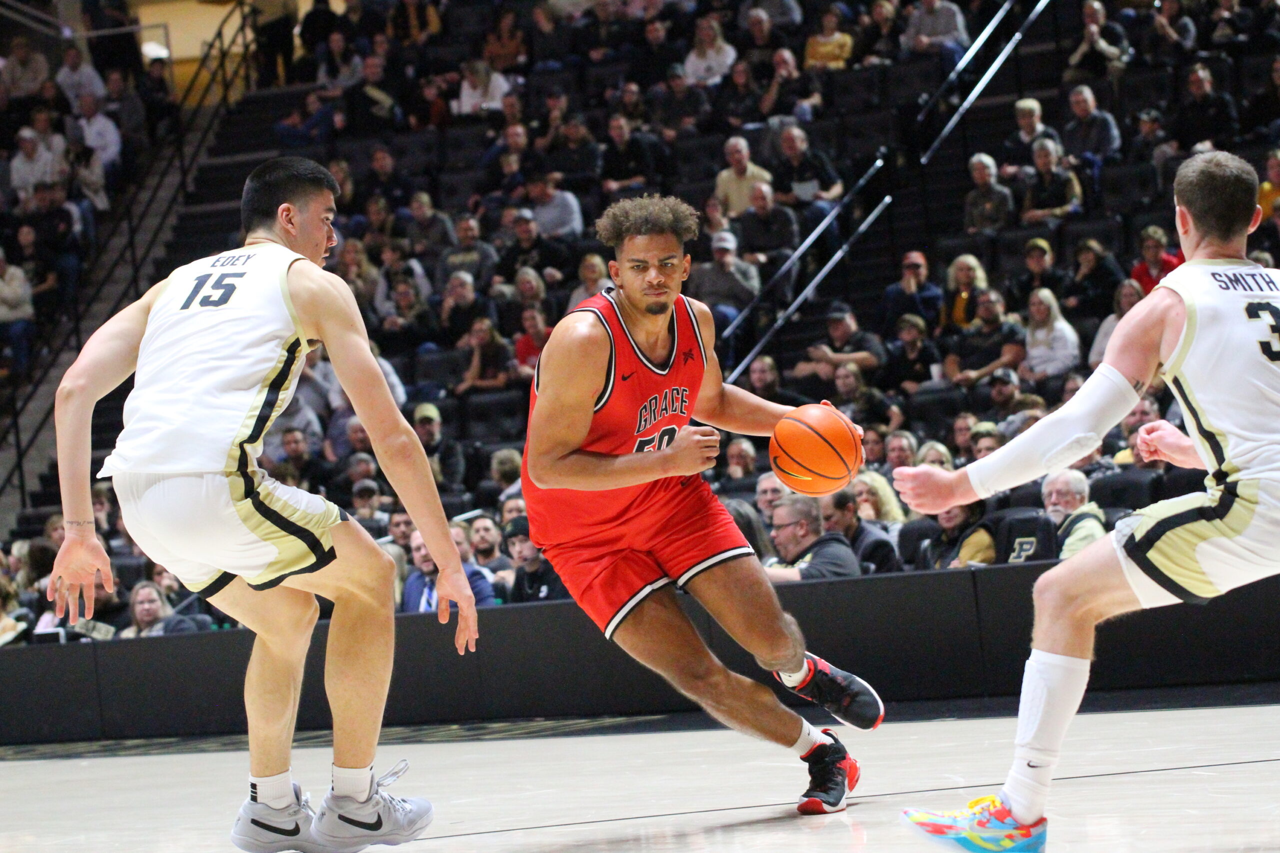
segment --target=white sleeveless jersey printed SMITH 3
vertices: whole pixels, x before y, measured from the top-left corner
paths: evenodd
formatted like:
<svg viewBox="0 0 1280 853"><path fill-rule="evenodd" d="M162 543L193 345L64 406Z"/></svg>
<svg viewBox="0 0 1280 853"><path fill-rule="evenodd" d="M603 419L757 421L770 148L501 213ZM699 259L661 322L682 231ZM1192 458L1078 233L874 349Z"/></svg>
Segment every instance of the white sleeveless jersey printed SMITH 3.
<svg viewBox="0 0 1280 853"><path fill-rule="evenodd" d="M1280 270L1188 261L1160 283L1187 304L1165 381L1208 483L1280 478Z"/></svg>

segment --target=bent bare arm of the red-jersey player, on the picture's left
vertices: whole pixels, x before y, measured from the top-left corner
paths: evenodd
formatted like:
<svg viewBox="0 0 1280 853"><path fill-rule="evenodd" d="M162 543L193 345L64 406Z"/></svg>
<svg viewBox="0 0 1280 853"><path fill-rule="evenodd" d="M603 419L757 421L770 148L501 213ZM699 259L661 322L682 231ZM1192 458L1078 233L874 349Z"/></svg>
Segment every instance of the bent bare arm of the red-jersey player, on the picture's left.
<svg viewBox="0 0 1280 853"><path fill-rule="evenodd" d="M538 402L529 416L529 476L541 489L605 491L716 464L719 434L682 427L663 450L613 455L582 450L609 371L609 335L589 312L571 313L538 359Z"/></svg>

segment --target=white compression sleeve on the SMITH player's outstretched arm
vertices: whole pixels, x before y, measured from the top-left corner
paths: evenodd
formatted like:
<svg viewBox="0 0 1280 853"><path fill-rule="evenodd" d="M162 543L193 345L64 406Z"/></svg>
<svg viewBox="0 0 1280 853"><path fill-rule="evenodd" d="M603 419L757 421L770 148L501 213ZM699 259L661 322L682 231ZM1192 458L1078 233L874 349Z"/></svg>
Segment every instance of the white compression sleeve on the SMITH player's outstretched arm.
<svg viewBox="0 0 1280 853"><path fill-rule="evenodd" d="M1068 468L1102 444L1102 436L1138 404L1120 371L1102 364L1057 412L1007 445L965 467L978 497Z"/></svg>

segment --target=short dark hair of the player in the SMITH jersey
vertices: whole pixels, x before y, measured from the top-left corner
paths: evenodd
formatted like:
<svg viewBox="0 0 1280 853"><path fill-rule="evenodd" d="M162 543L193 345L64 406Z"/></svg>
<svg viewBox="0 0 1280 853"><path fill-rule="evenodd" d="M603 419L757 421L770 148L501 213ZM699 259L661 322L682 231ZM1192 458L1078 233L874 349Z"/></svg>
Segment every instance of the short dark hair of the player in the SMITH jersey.
<svg viewBox="0 0 1280 853"><path fill-rule="evenodd" d="M1198 153L1178 168L1174 198L1201 234L1225 243L1249 228L1258 206L1258 174L1234 153Z"/></svg>

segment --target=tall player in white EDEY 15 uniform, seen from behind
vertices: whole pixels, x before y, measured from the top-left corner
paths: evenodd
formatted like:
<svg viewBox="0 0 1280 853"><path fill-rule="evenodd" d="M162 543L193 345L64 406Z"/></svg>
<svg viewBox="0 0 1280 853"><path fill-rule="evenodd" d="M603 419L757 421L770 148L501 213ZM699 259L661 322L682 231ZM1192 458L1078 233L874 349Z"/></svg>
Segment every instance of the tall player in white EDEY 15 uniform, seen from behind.
<svg viewBox="0 0 1280 853"><path fill-rule="evenodd" d="M243 248L179 267L84 344L58 389L58 469L67 541L49 593L59 616L93 615L110 560L90 505L93 404L136 372L113 477L133 540L257 637L244 678L250 799L232 841L252 853L346 853L421 835L431 804L383 788L372 763L394 651L394 565L338 506L283 486L255 463L323 341L378 460L439 567L439 619L456 602L458 653L476 613L435 478L392 400L347 284L320 269L334 246L338 184L316 162L280 157L248 176ZM317 812L289 776L302 669L319 609L334 602L325 659L333 788Z"/></svg>

